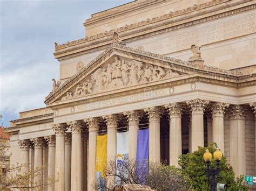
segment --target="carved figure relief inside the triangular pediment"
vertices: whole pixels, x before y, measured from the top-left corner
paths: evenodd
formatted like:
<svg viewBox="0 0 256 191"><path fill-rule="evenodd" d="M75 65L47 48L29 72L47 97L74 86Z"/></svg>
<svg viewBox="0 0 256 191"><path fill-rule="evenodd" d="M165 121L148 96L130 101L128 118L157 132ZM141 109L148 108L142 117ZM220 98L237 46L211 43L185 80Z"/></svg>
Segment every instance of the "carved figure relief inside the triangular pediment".
<svg viewBox="0 0 256 191"><path fill-rule="evenodd" d="M61 100L100 93L122 86L153 82L179 76L172 69L143 63L137 60L130 62L120 60L118 56L107 66L98 68L89 78L77 84L73 92L68 91Z"/></svg>

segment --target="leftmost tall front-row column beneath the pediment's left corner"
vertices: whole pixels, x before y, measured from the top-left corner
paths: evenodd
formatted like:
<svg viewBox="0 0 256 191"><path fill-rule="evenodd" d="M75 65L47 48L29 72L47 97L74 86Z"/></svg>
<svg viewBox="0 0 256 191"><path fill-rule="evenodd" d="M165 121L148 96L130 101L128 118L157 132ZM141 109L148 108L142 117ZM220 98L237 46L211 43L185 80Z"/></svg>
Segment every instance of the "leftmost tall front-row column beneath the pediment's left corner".
<svg viewBox="0 0 256 191"><path fill-rule="evenodd" d="M67 125L65 123L53 124L55 131L56 152L55 152L55 190L65 190L65 132Z"/></svg>

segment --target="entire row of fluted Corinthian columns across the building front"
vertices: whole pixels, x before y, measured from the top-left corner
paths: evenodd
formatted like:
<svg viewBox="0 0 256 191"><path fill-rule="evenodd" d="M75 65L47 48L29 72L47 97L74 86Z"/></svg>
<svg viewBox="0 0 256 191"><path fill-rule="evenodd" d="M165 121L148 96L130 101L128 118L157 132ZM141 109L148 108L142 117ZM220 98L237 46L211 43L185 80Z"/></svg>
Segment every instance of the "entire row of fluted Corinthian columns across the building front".
<svg viewBox="0 0 256 191"><path fill-rule="evenodd" d="M209 103L205 100L190 100L185 103L170 103L164 105L169 111L169 163L178 166L178 156L182 153L181 116L184 108L190 108L190 152L198 146L204 146L204 111L208 105L211 116L208 116L208 142L215 142L224 152L224 114L230 116L230 163L237 175L246 173L245 152L245 116L243 105L226 103ZM255 112L256 103L251 107ZM164 107L144 109L149 117L149 161L160 162L160 117ZM131 110L123 113L129 122L129 158L136 159L137 133L139 118L143 110ZM102 116L107 124L107 159L116 157L116 135L118 115ZM256 116L255 116L256 118ZM21 157L24 164L29 164L29 147L35 148L33 166L43 165L43 145L48 144L48 176L58 181L48 190L90 190L95 181L96 138L99 130L99 117L91 117L67 123L53 124L55 135L38 137L30 140L20 140ZM66 133L70 128L71 134ZM256 128L256 127L255 127ZM87 151L87 139L89 151ZM31 148L32 148L31 147ZM87 161L87 152L89 158ZM241 153L242 152L242 153ZM28 172L24 167L22 172ZM88 173L88 174L87 174ZM43 174L35 178L35 182L43 181Z"/></svg>

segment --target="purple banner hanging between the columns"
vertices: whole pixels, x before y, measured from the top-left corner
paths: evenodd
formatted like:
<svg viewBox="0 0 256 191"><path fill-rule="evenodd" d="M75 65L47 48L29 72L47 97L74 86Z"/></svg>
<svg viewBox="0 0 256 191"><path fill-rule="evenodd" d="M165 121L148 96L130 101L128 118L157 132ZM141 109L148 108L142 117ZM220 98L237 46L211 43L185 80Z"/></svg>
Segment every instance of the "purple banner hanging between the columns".
<svg viewBox="0 0 256 191"><path fill-rule="evenodd" d="M141 183L145 183L149 160L149 128L138 130L137 139L137 174Z"/></svg>

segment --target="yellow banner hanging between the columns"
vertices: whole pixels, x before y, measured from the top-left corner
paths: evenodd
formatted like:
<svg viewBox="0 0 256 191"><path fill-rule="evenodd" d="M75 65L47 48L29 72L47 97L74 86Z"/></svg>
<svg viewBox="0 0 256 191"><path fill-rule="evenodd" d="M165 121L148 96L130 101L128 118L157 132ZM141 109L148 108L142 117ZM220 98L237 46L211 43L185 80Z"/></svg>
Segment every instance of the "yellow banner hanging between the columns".
<svg viewBox="0 0 256 191"><path fill-rule="evenodd" d="M106 167L107 161L107 134L97 135L97 150L96 150L96 172L103 172Z"/></svg>

